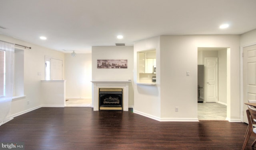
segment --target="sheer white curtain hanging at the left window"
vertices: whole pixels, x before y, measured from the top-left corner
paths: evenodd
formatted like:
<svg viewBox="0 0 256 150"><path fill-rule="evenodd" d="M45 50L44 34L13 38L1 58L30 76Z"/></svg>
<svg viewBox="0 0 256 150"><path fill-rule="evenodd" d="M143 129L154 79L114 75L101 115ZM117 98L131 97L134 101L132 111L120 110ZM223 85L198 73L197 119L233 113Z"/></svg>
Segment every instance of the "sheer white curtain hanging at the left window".
<svg viewBox="0 0 256 150"><path fill-rule="evenodd" d="M0 126L10 119L14 84L14 46L12 43L0 41L0 61L4 63L0 64Z"/></svg>

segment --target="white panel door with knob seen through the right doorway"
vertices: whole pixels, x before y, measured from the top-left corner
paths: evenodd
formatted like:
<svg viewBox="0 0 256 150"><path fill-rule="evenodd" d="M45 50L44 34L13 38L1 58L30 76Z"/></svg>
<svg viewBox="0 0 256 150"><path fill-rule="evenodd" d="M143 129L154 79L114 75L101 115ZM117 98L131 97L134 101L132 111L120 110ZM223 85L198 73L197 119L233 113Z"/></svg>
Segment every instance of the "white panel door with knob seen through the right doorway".
<svg viewBox="0 0 256 150"><path fill-rule="evenodd" d="M218 58L205 58L206 102L218 102Z"/></svg>

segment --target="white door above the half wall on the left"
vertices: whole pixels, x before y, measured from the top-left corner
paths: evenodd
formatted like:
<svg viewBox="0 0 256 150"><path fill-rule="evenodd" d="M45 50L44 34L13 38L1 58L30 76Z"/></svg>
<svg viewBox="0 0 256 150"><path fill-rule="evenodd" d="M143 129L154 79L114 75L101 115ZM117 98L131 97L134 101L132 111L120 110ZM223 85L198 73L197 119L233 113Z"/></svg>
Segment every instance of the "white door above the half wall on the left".
<svg viewBox="0 0 256 150"><path fill-rule="evenodd" d="M63 80L62 60L51 58L51 80Z"/></svg>

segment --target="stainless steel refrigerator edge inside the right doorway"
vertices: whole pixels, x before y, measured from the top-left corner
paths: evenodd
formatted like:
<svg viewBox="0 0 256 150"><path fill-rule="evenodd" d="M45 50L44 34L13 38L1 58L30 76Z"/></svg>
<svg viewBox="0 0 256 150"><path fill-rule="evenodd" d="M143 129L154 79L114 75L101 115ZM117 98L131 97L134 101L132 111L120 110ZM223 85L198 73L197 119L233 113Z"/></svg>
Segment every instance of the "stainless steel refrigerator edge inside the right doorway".
<svg viewBox="0 0 256 150"><path fill-rule="evenodd" d="M204 65L197 66L197 102L204 102Z"/></svg>

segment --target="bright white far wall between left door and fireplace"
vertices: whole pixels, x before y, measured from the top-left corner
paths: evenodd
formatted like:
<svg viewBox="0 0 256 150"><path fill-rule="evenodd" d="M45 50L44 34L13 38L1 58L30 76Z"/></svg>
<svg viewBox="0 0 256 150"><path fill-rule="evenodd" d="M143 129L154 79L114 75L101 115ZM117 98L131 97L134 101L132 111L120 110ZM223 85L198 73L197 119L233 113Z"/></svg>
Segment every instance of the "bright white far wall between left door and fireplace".
<svg viewBox="0 0 256 150"><path fill-rule="evenodd" d="M92 98L92 54L65 54L66 98Z"/></svg>

